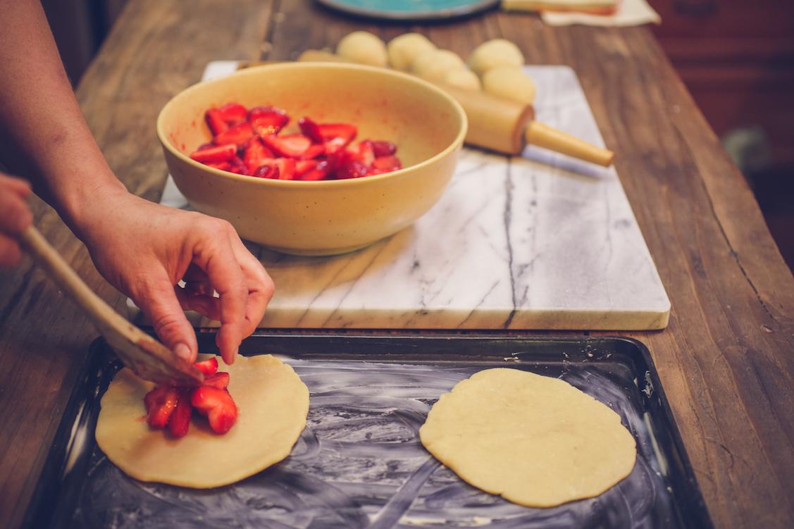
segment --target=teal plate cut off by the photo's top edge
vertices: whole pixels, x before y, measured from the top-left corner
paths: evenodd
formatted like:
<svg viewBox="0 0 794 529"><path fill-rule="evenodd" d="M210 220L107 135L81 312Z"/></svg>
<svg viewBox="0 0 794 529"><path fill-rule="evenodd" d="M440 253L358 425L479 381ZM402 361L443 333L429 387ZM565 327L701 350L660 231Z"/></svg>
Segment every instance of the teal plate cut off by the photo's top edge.
<svg viewBox="0 0 794 529"><path fill-rule="evenodd" d="M318 2L360 17L418 20L473 14L497 5L499 0L318 0Z"/></svg>

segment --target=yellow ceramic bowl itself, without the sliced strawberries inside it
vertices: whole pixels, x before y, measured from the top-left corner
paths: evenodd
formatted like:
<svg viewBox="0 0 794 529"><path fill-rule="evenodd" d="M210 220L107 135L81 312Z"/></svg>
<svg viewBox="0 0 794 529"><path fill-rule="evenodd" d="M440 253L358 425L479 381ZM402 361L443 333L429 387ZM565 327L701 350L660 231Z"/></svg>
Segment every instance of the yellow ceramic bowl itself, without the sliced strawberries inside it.
<svg viewBox="0 0 794 529"><path fill-rule="evenodd" d="M240 102L299 118L357 125L356 141L393 141L403 169L351 180L268 180L219 171L187 155L210 140L204 112ZM466 133L461 106L430 83L352 64L269 64L187 88L157 118L168 170L195 209L284 253L330 255L409 226L441 197Z"/></svg>

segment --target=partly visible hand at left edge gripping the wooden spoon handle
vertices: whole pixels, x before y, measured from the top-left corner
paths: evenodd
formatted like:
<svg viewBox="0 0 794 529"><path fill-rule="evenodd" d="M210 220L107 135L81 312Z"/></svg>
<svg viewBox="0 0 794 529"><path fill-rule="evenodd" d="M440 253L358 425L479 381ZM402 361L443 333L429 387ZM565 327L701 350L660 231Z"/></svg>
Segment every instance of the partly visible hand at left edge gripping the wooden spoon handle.
<svg viewBox="0 0 794 529"><path fill-rule="evenodd" d="M17 237L33 223L25 200L30 185L0 172L0 266L13 266L22 257Z"/></svg>

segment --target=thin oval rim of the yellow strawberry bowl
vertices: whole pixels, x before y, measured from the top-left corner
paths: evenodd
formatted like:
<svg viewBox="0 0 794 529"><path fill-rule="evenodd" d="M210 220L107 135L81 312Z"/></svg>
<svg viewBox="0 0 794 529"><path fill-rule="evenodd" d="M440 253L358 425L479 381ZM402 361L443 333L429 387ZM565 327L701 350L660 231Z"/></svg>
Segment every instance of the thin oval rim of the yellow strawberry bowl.
<svg viewBox="0 0 794 529"><path fill-rule="evenodd" d="M185 153L176 149L175 145L172 144L172 141L168 140L165 137L164 133L164 118L163 115L165 111L168 109L169 106L174 104L177 98L184 97L185 95L189 94L191 91L198 91L202 90L203 87L206 85L214 84L214 83L222 83L228 82L229 78L242 76L242 75L255 75L259 71L262 70L273 70L273 69L285 69L285 70L298 70L298 69L306 69L306 68L316 68L316 69L325 69L325 70L360 70L360 71L371 71L376 75L386 75L391 76L399 79L405 79L409 83L417 84L418 86L424 87L427 90L435 92L437 95L440 95L441 98L445 99L449 102L450 106L458 114L458 117L461 118L461 129L458 130L457 136L453 141L449 143L442 149L441 152L434 154L434 156L430 156L427 160L422 160L418 164L409 165L408 167L399 169L397 171L387 172L382 175L372 175L372 176L364 176L360 178L348 178L342 180L275 180L270 178L257 178L256 176L249 176L249 175L238 175L237 173L229 172L229 171L222 171L221 169L210 167L209 165L202 164L196 160L193 160L190 156L187 156ZM224 178L228 178L230 180L237 180L241 182L249 182L253 185L275 185L275 186L282 186L282 187L330 187L330 186L352 186L352 185L360 185L362 182L374 182L380 180L386 180L389 178L399 178L407 174L409 171L414 171L415 169L426 167L427 165L434 164L437 160L441 160L446 156L449 156L449 153L452 153L454 150L458 149L463 145L464 138L466 137L466 133L468 131L468 118L466 116L466 112L463 110L463 106L461 103L457 102L453 96L449 95L446 91L437 87L433 83L430 83L424 79L419 79L415 75L409 75L407 73L403 73L402 71L391 70L388 68L377 68L374 66L365 66L363 64L348 64L348 63L319 63L319 62L288 62L285 61L283 63L274 63L274 64L263 64L260 66L254 66L250 68L244 68L238 71L233 72L230 75L225 75L224 77L218 79L208 79L206 81L201 81L199 83L195 83L190 87L185 88L183 91L175 94L172 98L165 103L163 108L160 109L160 113L157 115L157 137L160 139L160 144L164 146L165 149L168 149L172 155L176 156L180 160L187 162L187 164L191 164L196 168L202 168L206 171L214 173L215 175L222 176Z"/></svg>

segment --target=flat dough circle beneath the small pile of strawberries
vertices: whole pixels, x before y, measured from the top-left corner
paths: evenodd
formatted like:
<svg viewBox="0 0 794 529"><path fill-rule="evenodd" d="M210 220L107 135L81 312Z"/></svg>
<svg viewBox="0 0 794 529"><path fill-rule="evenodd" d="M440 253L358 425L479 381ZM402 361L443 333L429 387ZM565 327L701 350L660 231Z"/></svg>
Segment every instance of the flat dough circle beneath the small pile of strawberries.
<svg viewBox="0 0 794 529"><path fill-rule="evenodd" d="M209 357L209 355L201 355ZM151 430L143 398L154 387L121 369L102 396L96 440L110 461L141 481L191 488L228 485L286 458L306 427L309 390L290 365L275 357L238 355L229 372L237 423L223 435L191 419L181 439Z"/></svg>

